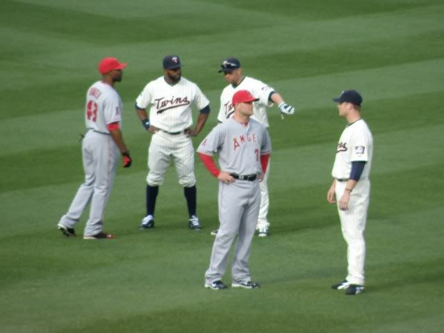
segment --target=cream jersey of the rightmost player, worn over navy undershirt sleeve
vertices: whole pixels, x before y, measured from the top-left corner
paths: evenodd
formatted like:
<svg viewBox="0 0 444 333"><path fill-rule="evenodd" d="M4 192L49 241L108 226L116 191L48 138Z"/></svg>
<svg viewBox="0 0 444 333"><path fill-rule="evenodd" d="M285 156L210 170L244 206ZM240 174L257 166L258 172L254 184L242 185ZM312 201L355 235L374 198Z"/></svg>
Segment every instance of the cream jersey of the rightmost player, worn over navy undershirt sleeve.
<svg viewBox="0 0 444 333"><path fill-rule="evenodd" d="M348 179L353 161L365 161L361 178L370 174L373 155L373 137L367 123L360 119L345 127L340 136L336 159L331 175L337 179Z"/></svg>

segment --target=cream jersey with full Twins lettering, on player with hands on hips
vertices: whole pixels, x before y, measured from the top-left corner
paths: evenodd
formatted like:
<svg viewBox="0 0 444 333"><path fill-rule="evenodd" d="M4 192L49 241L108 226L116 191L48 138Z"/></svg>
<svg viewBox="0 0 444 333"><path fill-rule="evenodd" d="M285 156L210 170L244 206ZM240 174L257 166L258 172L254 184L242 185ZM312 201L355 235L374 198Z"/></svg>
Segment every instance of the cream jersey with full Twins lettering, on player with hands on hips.
<svg viewBox="0 0 444 333"><path fill-rule="evenodd" d="M210 102L197 84L184 77L172 86L161 76L149 82L135 100L138 108L151 105L151 125L170 133L183 131L192 125L192 103L202 110Z"/></svg>

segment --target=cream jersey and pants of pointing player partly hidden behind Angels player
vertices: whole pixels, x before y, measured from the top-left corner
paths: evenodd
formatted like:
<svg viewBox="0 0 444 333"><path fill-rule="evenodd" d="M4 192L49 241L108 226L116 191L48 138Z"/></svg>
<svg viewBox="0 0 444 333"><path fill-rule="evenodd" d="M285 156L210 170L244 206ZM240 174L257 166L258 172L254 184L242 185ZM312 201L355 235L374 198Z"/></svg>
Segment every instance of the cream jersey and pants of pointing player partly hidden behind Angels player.
<svg viewBox="0 0 444 333"><path fill-rule="evenodd" d="M220 110L217 115L217 120L220 122L225 122L229 117L233 116L234 108L231 104L231 99L233 95L238 90L248 90L254 97L258 98L258 101L253 102L253 115L252 119L261 122L265 127L268 125L267 108L272 106L273 103L270 101L270 93L274 89L265 83L253 79L251 77L245 76L242 82L238 86L233 87L231 84L224 88L222 94L220 95ZM268 176L270 174L270 161L268 161L268 168L264 174L263 181L261 181L261 209L259 209L258 225L257 227L266 226L269 223L267 220L269 197L268 197Z"/></svg>

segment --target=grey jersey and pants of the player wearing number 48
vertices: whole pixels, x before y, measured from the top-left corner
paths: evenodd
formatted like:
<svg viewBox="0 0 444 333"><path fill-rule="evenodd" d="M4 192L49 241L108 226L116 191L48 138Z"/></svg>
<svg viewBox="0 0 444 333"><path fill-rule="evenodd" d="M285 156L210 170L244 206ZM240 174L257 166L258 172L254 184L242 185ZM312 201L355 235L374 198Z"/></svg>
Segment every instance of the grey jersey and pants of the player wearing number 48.
<svg viewBox="0 0 444 333"><path fill-rule="evenodd" d="M101 232L104 209L113 187L120 153L106 127L112 122L120 122L122 127L122 100L113 87L97 81L86 94L85 125L88 133L82 142L85 182L77 191L68 212L59 221L65 227L74 228L91 201L84 236Z"/></svg>

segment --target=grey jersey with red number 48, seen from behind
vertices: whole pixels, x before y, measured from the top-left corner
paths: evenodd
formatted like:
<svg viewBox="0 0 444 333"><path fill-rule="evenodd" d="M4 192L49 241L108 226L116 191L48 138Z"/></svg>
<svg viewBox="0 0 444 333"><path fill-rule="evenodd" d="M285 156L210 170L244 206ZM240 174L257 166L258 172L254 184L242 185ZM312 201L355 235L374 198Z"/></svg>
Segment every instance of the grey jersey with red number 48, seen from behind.
<svg viewBox="0 0 444 333"><path fill-rule="evenodd" d="M108 83L97 81L86 92L86 128L109 133L106 125L112 122L119 122L122 127L122 99Z"/></svg>

